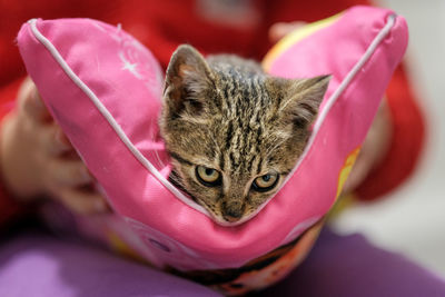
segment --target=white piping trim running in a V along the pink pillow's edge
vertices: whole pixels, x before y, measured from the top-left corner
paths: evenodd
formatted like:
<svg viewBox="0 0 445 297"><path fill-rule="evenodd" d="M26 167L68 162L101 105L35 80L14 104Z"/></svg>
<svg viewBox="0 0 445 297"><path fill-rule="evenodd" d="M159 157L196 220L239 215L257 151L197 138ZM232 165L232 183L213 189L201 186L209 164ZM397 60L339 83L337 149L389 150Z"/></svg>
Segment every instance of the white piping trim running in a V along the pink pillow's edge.
<svg viewBox="0 0 445 297"><path fill-rule="evenodd" d="M396 14L390 14L388 17L388 20L385 24L385 27L378 32L378 34L374 38L365 53L362 56L362 58L358 60L358 62L353 67L353 69L349 71L349 73L345 77L345 79L342 81L340 86L335 90L335 92L330 96L330 98L327 100L324 109L319 113L317 121L315 122L313 133L308 140L308 143L300 156L297 165L294 167L293 171L288 175L286 180L283 182L281 187L283 188L286 182L289 180L289 178L295 174L295 171L298 169L300 166L301 161L305 159L306 155L308 154L312 145L314 143L314 140L318 133L318 131L322 128L322 125L327 117L330 108L334 106L336 100L339 98L342 92L349 86L350 81L354 79L354 77L357 75L357 72L360 70L360 68L369 60L370 56L374 53L376 48L379 46L379 43L386 38L386 36L389 33L390 29L393 28L395 23ZM56 47L49 41L36 27L37 19L32 19L28 21L31 26L31 31L34 34L34 37L47 48L47 50L51 53L51 56L56 59L56 61L60 65L62 70L67 73L67 76L78 86L86 95L87 97L92 101L92 103L96 106L96 108L99 110L99 112L105 117L105 119L109 122L111 128L116 131L118 137L121 139L121 141L126 145L126 147L131 151L131 154L135 156L136 159L140 161L140 164L146 167L168 190L171 191L178 199L180 199L182 202L188 205L189 207L202 212L207 217L211 218L215 222L221 226L237 226L240 225L253 217L255 217L264 207L266 207L267 204L275 197L270 197L265 204L263 204L256 211L250 214L249 216L245 217L244 219L236 221L236 222L225 222L225 221L217 221L215 220L211 215L201 206L198 204L191 201L188 197L186 197L181 191L179 191L174 185L171 185L166 178L164 178L162 175L156 169L152 164L147 160L144 155L136 148L136 146L131 142L131 140L127 137L120 125L115 120L112 115L108 111L108 109L102 105L102 102L97 98L97 96L91 91L90 88L88 88L87 85L83 83L83 81L80 80L80 78L72 71L72 69L68 66L68 63L63 60L59 51L56 49ZM279 191L279 190L278 190ZM277 192L278 192L277 191Z"/></svg>

